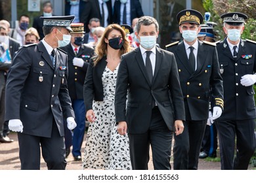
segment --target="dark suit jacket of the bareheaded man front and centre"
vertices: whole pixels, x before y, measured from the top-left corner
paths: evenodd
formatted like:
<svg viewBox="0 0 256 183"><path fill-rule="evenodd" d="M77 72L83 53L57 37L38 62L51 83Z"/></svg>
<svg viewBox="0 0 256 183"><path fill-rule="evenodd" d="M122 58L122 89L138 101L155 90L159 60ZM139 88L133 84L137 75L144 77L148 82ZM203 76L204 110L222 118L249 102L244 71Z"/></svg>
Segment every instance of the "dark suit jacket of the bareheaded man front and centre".
<svg viewBox="0 0 256 183"><path fill-rule="evenodd" d="M150 84L140 48L136 48L121 56L115 95L116 122L127 122L128 133L145 133L150 127L153 98L169 130L173 131L175 120L185 120L173 54L156 47L156 68Z"/></svg>

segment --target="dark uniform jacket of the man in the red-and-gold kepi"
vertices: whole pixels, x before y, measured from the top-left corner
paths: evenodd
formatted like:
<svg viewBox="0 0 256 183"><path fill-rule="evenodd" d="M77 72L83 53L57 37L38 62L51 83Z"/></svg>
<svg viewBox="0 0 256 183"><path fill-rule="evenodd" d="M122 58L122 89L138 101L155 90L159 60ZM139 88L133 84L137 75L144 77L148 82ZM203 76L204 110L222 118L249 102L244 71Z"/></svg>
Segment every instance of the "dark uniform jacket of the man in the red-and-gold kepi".
<svg viewBox="0 0 256 183"><path fill-rule="evenodd" d="M94 54L93 48L81 45L77 56L75 56L71 43L60 49L68 53L68 92L71 99L83 99L83 84L89 66L89 60ZM83 67L73 65L73 59L81 58L84 61Z"/></svg>

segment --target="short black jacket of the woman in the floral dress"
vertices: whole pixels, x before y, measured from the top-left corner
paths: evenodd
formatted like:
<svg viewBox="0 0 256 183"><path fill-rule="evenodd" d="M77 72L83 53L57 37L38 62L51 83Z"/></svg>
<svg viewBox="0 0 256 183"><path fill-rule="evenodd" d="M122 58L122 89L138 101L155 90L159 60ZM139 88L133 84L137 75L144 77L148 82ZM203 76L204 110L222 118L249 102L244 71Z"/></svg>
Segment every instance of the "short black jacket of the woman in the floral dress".
<svg viewBox="0 0 256 183"><path fill-rule="evenodd" d="M83 85L83 99L85 101L86 110L93 109L93 100L103 101L103 85L102 74L106 68L106 56L104 56L96 66L94 66L92 58L85 77Z"/></svg>

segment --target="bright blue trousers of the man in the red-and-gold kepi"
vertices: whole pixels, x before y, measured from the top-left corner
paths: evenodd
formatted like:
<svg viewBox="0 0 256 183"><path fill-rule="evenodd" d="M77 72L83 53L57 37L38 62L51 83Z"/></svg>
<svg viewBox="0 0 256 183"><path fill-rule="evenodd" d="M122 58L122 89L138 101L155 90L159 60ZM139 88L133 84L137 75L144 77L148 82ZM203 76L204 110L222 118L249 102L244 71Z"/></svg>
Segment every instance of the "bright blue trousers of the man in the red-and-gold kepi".
<svg viewBox="0 0 256 183"><path fill-rule="evenodd" d="M73 131L72 154L74 157L81 156L81 146L85 135L85 104L83 99L72 100L72 107L75 112L75 122L77 126Z"/></svg>

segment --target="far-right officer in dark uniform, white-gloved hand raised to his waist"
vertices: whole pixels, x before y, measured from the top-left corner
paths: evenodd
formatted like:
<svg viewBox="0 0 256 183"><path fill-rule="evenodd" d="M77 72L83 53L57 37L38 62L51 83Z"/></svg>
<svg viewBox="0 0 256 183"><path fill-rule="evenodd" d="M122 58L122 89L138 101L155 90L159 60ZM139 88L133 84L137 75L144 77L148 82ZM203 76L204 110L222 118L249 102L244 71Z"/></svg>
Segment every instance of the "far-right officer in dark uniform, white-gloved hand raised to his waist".
<svg viewBox="0 0 256 183"><path fill-rule="evenodd" d="M217 44L226 104L223 114L215 122L219 134L221 169L247 169L256 146L253 97L256 42L240 38L247 15L230 12L221 18L227 35L224 41Z"/></svg>

